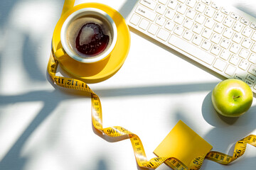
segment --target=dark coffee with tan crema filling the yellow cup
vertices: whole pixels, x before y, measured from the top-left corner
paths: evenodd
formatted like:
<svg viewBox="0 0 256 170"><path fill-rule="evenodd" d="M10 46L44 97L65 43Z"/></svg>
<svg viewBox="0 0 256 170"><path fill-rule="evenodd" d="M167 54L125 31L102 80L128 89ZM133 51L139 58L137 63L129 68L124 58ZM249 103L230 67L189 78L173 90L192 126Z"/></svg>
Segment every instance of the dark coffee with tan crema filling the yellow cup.
<svg viewBox="0 0 256 170"><path fill-rule="evenodd" d="M92 44L94 42L92 42L92 44L90 43L95 34L95 30L93 29L98 29L97 27L99 27L99 30L102 30L103 33L102 38L104 39L102 40L106 45L104 48L93 47ZM84 58L92 58L102 55L109 49L110 45L112 44L113 30L110 23L105 21L104 18L100 18L99 16L82 16L70 23L66 36L68 45L75 54ZM100 35L97 35L96 39L99 38L99 36ZM108 40L106 41L105 39L107 37ZM102 43L100 43L100 45L101 44ZM89 46L92 49L88 50Z"/></svg>

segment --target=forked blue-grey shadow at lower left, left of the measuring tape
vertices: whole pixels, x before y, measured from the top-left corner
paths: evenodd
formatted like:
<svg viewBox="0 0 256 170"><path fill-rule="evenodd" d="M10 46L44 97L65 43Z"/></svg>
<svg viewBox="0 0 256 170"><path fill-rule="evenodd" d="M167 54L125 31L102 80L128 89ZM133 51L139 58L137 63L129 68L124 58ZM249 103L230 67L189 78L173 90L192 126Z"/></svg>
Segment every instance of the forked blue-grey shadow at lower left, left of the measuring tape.
<svg viewBox="0 0 256 170"><path fill-rule="evenodd" d="M49 100L52 98L52 100ZM26 144L28 137L43 123L48 116L53 113L58 104L64 100L70 100L74 97L60 95L57 91L33 91L19 96L0 96L0 106L8 105L11 103L30 102L30 101L43 101L43 108L38 112L35 118L28 125L18 137L18 140L11 146L0 162L0 169L23 169L26 163L26 157L20 157L21 149Z"/></svg>

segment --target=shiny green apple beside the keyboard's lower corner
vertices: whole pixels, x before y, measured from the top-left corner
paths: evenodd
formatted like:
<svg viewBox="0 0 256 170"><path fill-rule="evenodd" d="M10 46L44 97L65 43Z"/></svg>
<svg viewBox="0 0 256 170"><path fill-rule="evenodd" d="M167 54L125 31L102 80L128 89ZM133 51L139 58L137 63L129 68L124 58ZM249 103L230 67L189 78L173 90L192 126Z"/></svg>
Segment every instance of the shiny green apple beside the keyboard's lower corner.
<svg viewBox="0 0 256 170"><path fill-rule="evenodd" d="M252 106L253 94L244 81L226 79L215 86L211 98L220 115L239 117Z"/></svg>

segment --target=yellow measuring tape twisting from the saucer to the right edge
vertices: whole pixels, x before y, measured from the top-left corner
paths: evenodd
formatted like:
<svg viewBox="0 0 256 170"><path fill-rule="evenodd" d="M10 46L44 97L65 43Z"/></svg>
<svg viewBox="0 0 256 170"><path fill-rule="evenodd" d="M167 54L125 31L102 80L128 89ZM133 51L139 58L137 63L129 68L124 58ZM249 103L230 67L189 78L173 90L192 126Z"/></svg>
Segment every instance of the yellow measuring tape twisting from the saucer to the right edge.
<svg viewBox="0 0 256 170"><path fill-rule="evenodd" d="M208 152L206 155L202 155L201 157L196 157L193 159L189 166L186 166L174 157L155 157L148 161L144 147L142 145L142 141L137 135L120 126L103 128L102 106L99 96L97 96L97 94L95 94L95 92L92 91L92 89L90 89L90 87L87 86L84 81L56 76L57 68L58 61L55 60L53 53L51 53L50 60L48 62L48 74L50 75L51 79L53 79L54 83L63 88L89 92L91 94L92 125L94 128L101 132L102 135L107 135L108 137L125 137L126 139L129 139L132 143L132 148L134 150L134 156L136 158L137 164L142 168L156 169L159 165L168 160L171 163L169 163L169 166L171 166L171 168L174 170L198 170L201 168L204 159L210 159L213 162L218 162L219 164L230 164L230 162L235 161L235 159L238 159L242 156L242 154L245 153L247 144L256 147L256 135L248 135L242 140L236 142L233 156L223 154L221 152Z"/></svg>

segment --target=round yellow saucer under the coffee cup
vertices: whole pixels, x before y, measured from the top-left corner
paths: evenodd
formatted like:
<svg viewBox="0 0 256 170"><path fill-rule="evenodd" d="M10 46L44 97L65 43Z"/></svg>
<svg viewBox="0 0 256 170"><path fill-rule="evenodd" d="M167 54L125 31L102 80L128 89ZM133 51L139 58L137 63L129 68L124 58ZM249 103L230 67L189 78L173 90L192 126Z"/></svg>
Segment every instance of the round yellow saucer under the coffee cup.
<svg viewBox="0 0 256 170"><path fill-rule="evenodd" d="M110 57L95 63L82 63L73 60L68 55L60 57L60 66L72 76L82 79L86 83L97 83L112 77L124 64L130 47L129 28L121 14L110 6L98 3L85 3L74 6L60 17L53 32L53 53L62 47L60 42L60 30L63 23L71 13L81 8L99 8L105 11L117 26L117 45L114 47Z"/></svg>

